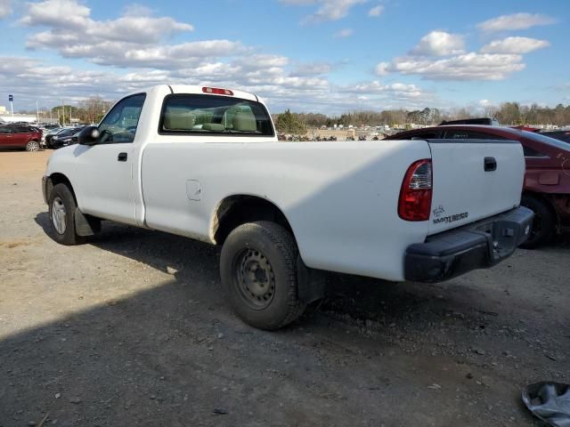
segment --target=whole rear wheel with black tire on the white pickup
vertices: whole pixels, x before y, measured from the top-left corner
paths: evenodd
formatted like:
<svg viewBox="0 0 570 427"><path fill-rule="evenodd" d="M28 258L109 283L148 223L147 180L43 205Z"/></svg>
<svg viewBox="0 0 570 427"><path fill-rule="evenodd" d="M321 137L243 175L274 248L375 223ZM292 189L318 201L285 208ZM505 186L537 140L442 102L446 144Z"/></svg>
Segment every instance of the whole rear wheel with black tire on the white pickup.
<svg viewBox="0 0 570 427"><path fill-rule="evenodd" d="M222 284L248 325L272 331L303 314L297 256L295 239L274 222L249 222L226 238L220 257Z"/></svg>

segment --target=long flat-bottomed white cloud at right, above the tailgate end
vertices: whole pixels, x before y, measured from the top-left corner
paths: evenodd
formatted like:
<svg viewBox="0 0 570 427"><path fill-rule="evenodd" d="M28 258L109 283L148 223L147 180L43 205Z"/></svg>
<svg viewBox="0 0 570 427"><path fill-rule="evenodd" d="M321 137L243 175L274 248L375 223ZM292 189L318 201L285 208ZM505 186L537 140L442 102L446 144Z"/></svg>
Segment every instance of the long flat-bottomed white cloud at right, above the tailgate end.
<svg viewBox="0 0 570 427"><path fill-rule="evenodd" d="M431 80L502 80L524 69L522 60L522 56L516 54L469 52L440 60L396 58L386 69Z"/></svg>

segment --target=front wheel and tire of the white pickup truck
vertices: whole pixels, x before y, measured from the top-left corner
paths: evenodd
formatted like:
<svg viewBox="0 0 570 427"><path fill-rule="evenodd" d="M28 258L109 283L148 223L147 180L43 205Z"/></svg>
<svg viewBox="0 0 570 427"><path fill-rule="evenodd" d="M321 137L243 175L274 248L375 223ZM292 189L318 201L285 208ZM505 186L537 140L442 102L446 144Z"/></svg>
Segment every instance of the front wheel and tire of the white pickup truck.
<svg viewBox="0 0 570 427"><path fill-rule="evenodd" d="M48 206L50 235L53 240L61 245L68 246L84 243L85 238L78 236L75 229L77 204L67 185L57 184L53 187Z"/></svg>

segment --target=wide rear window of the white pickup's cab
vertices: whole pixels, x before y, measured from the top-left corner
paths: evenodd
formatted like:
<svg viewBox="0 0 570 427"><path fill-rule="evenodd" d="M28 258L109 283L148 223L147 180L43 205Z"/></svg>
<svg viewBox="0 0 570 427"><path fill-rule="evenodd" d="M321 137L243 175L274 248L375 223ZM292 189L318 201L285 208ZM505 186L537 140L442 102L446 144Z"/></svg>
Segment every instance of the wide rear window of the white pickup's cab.
<svg viewBox="0 0 570 427"><path fill-rule="evenodd" d="M273 136L263 104L229 96L168 95L162 106L159 133Z"/></svg>

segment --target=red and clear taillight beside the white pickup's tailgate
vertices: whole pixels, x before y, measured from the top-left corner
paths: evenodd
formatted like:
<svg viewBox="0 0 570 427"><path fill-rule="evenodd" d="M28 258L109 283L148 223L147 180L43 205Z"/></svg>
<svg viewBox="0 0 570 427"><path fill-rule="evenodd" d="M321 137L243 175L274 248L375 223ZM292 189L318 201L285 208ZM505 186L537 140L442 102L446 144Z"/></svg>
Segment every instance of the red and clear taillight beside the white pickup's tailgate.
<svg viewBox="0 0 570 427"><path fill-rule="evenodd" d="M432 194L431 160L424 158L411 164L403 177L398 215L405 221L428 221Z"/></svg>

